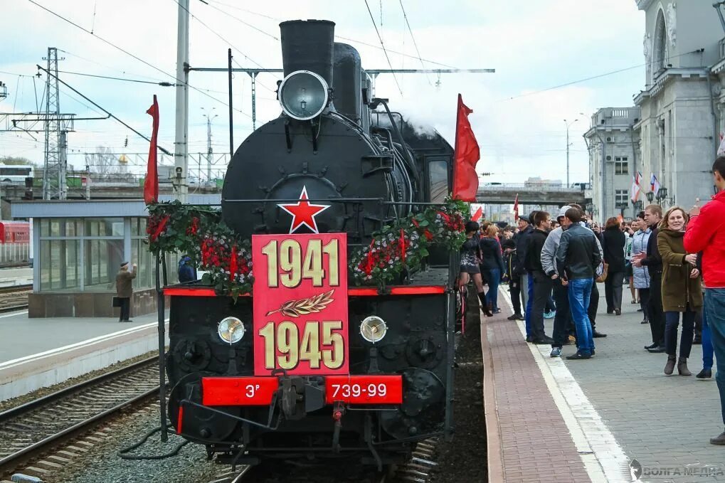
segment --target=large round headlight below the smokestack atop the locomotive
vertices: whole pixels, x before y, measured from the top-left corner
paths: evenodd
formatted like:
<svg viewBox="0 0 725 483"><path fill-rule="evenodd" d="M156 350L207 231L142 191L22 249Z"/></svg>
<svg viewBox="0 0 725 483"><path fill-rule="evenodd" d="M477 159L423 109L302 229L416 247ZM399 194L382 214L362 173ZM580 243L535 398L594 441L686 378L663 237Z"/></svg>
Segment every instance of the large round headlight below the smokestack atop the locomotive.
<svg viewBox="0 0 725 483"><path fill-rule="evenodd" d="M297 120L320 115L330 100L325 79L309 70L297 70L284 78L278 96L284 113Z"/></svg>

